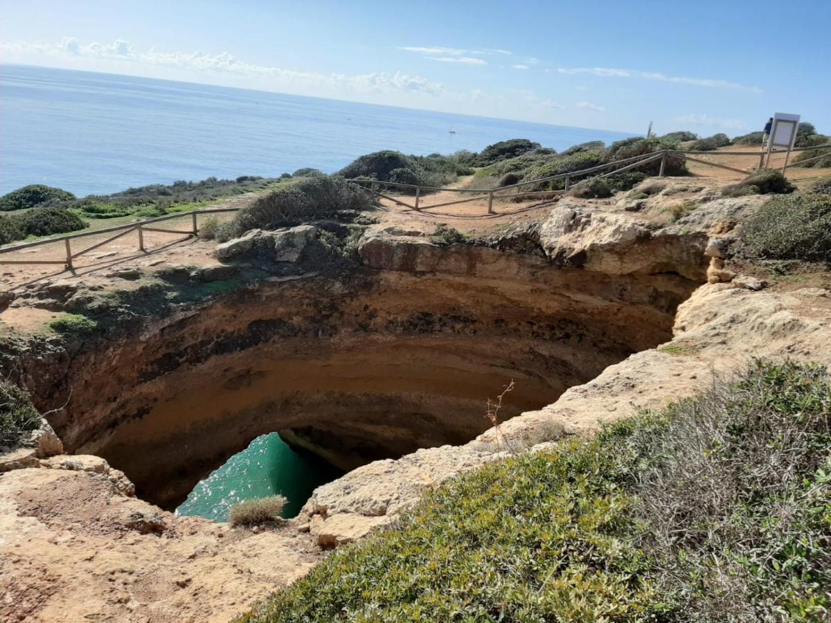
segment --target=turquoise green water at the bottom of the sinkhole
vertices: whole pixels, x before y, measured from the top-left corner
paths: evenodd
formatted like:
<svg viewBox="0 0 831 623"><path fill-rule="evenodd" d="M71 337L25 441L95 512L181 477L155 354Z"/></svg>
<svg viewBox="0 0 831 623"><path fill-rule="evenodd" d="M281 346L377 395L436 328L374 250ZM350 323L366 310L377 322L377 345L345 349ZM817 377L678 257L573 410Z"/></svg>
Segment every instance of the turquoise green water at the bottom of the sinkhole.
<svg viewBox="0 0 831 623"><path fill-rule="evenodd" d="M176 514L227 522L234 504L279 493L288 498L283 517L292 518L314 488L340 475L312 454L295 452L277 433L263 434L199 482Z"/></svg>

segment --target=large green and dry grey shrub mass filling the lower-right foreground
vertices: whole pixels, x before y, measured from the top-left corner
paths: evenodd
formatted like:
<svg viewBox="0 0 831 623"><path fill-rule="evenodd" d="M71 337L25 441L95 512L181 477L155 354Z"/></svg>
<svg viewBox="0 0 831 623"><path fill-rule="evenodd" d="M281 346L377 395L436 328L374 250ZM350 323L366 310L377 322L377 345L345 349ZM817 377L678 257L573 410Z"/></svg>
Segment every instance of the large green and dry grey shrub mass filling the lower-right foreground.
<svg viewBox="0 0 831 623"><path fill-rule="evenodd" d="M831 382L737 380L463 474L240 621L819 621Z"/></svg>

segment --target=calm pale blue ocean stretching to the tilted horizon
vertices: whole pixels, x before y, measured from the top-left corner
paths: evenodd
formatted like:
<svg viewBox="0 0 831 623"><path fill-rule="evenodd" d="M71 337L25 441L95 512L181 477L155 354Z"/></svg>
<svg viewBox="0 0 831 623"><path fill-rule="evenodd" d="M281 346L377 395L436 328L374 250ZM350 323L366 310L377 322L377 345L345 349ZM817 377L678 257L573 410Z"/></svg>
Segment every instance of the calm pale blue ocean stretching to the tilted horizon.
<svg viewBox="0 0 831 623"><path fill-rule="evenodd" d="M450 133L450 129L455 134ZM78 196L211 176L332 173L376 150L479 151L524 138L563 150L627 134L133 76L0 65L0 194Z"/></svg>

